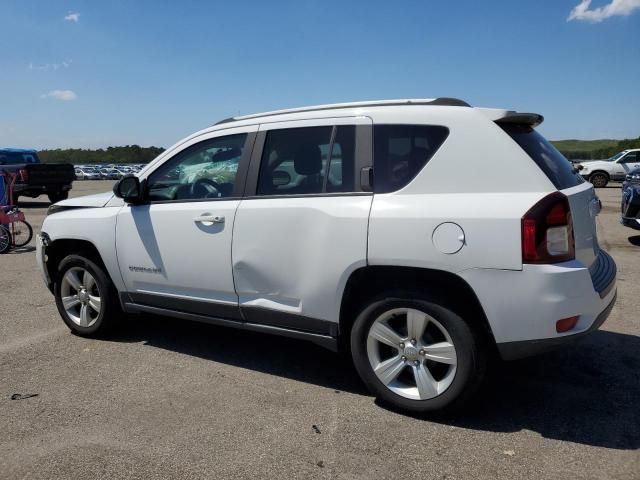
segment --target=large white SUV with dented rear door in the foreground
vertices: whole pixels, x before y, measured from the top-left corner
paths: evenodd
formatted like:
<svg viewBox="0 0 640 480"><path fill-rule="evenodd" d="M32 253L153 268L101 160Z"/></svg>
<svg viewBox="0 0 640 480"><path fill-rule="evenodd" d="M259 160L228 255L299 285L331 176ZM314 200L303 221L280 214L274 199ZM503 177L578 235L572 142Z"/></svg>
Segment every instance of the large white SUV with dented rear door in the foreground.
<svg viewBox="0 0 640 480"><path fill-rule="evenodd" d="M396 407L459 405L496 347L562 344L615 301L599 201L541 121L447 98L223 120L52 206L38 262L79 335L122 312L286 335L349 351Z"/></svg>

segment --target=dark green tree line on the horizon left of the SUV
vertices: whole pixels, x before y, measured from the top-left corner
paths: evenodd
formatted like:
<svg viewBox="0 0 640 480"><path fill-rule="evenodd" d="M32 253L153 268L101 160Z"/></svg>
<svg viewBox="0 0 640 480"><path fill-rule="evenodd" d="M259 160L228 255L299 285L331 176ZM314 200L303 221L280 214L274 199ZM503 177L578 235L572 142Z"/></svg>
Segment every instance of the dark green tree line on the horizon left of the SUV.
<svg viewBox="0 0 640 480"><path fill-rule="evenodd" d="M73 163L74 165L93 165L99 163L149 163L162 152L161 147L141 147L126 145L97 150L84 148L66 148L40 150L38 156L43 163Z"/></svg>

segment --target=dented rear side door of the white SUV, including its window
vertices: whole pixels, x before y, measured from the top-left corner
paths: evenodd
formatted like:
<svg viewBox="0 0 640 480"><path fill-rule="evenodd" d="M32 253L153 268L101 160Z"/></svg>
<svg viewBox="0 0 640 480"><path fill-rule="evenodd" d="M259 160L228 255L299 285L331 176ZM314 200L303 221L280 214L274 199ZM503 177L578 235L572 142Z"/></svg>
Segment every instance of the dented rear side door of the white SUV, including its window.
<svg viewBox="0 0 640 480"><path fill-rule="evenodd" d="M366 265L372 194L365 117L260 126L236 215L233 274L249 323L333 335L351 272Z"/></svg>

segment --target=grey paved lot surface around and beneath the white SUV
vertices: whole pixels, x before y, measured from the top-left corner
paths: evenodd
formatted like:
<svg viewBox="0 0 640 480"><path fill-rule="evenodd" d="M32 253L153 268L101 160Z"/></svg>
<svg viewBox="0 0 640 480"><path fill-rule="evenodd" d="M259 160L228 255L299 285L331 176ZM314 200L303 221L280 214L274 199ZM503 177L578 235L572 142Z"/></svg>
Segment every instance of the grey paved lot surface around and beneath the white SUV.
<svg viewBox="0 0 640 480"><path fill-rule="evenodd" d="M33 248L0 256L0 478L640 478L640 235L618 223L619 187L598 193L609 320L496 365L455 418L386 410L348 362L284 338L147 317L76 337ZM36 230L47 206L23 202Z"/></svg>

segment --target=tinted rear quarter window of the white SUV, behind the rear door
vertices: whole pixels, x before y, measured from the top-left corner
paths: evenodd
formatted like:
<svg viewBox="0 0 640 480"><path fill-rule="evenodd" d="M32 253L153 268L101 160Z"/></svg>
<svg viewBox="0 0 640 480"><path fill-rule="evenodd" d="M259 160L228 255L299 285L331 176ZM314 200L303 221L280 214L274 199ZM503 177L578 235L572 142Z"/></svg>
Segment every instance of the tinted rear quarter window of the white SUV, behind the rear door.
<svg viewBox="0 0 640 480"><path fill-rule="evenodd" d="M449 135L435 125L376 125L373 130L373 190L399 190L415 178Z"/></svg>

